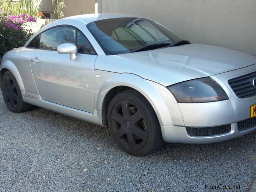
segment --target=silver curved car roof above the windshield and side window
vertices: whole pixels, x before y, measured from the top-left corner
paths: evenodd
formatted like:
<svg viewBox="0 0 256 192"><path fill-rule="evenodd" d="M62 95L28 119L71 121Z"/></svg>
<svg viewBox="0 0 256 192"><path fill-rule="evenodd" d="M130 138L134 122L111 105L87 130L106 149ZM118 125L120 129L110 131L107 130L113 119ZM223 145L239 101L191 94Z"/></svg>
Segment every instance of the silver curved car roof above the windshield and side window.
<svg viewBox="0 0 256 192"><path fill-rule="evenodd" d="M130 15L130 14L121 14L121 13L94 13L94 14L84 14L84 15L76 15L76 16L66 17L61 20L75 19L75 20L79 20L85 24L88 24L90 22L97 21L97 20L122 18L122 17L135 17L135 18L139 17L139 18L141 18L140 16Z"/></svg>

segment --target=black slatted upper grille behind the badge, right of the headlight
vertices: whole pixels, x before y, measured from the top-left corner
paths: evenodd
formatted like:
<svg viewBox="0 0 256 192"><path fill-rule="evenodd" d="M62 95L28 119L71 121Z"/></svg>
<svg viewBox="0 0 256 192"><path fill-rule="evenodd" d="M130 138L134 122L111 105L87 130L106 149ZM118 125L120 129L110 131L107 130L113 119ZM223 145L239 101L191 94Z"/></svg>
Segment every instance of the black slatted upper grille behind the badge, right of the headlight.
<svg viewBox="0 0 256 192"><path fill-rule="evenodd" d="M256 72L230 79L228 84L237 97L244 99L256 95L256 89L252 84L253 78L256 78Z"/></svg>

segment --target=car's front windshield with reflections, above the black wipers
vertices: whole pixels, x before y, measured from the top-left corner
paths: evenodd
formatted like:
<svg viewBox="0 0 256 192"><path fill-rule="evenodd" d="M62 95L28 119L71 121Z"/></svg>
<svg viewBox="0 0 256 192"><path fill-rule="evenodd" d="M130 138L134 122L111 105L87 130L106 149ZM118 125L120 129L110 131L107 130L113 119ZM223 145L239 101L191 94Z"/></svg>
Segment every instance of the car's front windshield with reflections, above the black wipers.
<svg viewBox="0 0 256 192"><path fill-rule="evenodd" d="M182 39L149 19L114 18L87 24L106 55L130 53L153 44L175 44ZM157 47L156 47L157 48Z"/></svg>

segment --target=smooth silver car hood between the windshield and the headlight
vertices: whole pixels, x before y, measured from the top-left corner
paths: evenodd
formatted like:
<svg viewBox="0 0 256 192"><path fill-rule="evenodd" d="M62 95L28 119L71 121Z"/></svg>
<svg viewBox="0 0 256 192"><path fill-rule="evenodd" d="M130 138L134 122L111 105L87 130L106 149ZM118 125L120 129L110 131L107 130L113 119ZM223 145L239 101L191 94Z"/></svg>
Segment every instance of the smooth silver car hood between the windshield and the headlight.
<svg viewBox="0 0 256 192"><path fill-rule="evenodd" d="M107 57L108 65L104 64L106 56L105 59L100 57L95 68L136 74L164 86L256 64L255 56L203 44L188 44Z"/></svg>

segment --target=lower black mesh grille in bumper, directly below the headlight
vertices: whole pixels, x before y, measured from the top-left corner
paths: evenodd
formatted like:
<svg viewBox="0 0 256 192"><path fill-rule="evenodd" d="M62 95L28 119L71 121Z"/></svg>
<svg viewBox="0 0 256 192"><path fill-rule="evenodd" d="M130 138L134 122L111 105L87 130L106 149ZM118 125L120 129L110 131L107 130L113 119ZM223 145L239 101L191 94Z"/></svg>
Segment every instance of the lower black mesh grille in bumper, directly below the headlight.
<svg viewBox="0 0 256 192"><path fill-rule="evenodd" d="M231 131L231 125L221 125L217 127L186 127L187 133L190 136L213 136L229 133Z"/></svg>

